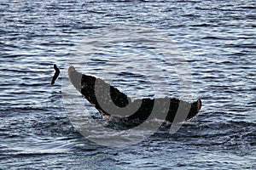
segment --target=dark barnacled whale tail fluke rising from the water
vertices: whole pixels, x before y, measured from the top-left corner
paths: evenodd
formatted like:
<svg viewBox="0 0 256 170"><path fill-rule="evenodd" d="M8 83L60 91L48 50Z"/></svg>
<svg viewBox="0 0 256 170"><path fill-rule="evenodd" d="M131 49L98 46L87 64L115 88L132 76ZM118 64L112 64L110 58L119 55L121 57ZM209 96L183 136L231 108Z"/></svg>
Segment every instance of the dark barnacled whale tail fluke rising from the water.
<svg viewBox="0 0 256 170"><path fill-rule="evenodd" d="M70 66L68 69L68 77L73 86L84 95L84 98L91 105L100 111L102 116L119 116L126 120L138 119L145 121L154 113L154 117L150 116L151 118L165 119L166 121L173 122L177 111L182 111L180 114L187 113L188 116L177 120L177 122L183 122L196 116L201 110L201 99L194 103L172 98L145 98L131 101L127 95L121 93L117 88L114 88L100 78L83 75L76 71L73 66ZM180 108L178 108L179 106ZM163 117L164 115L167 116Z"/></svg>

